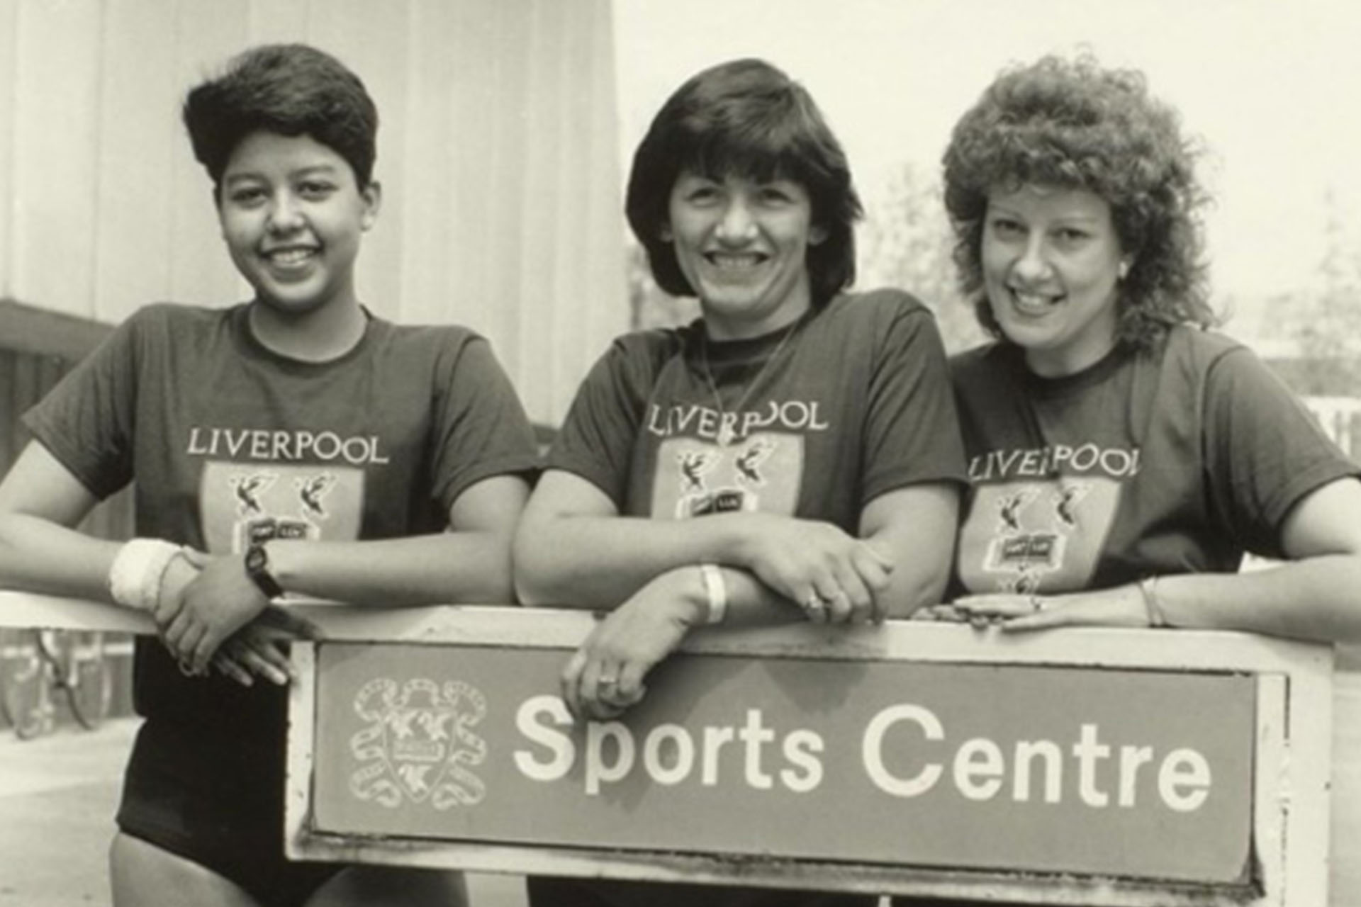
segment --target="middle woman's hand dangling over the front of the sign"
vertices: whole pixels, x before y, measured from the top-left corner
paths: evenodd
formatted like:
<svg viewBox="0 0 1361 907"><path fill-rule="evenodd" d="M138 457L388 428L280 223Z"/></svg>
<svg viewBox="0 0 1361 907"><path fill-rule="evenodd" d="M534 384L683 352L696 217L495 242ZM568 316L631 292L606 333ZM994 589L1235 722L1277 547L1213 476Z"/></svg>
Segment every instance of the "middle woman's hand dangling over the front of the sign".
<svg viewBox="0 0 1361 907"><path fill-rule="evenodd" d="M562 699L577 719L608 721L642 702L644 677L701 620L675 581L680 572L661 574L600 617L568 661Z"/></svg>

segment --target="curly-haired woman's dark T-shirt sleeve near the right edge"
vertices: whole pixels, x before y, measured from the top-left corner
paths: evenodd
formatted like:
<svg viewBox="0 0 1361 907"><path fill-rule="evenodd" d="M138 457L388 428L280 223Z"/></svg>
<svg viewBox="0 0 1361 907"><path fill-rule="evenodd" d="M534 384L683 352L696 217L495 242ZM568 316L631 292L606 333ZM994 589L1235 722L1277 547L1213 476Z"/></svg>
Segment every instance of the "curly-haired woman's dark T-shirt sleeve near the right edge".
<svg viewBox="0 0 1361 907"><path fill-rule="evenodd" d="M1253 553L1281 558L1292 507L1315 488L1361 472L1243 347L1210 367L1202 405L1213 506L1225 530Z"/></svg>

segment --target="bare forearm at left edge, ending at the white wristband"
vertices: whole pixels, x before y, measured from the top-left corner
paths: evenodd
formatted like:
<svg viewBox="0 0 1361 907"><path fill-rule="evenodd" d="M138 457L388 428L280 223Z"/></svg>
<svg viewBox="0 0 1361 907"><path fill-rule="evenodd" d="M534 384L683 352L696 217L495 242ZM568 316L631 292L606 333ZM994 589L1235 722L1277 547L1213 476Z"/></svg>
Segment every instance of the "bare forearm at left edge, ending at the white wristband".
<svg viewBox="0 0 1361 907"><path fill-rule="evenodd" d="M109 568L120 543L27 514L0 517L0 585L110 602Z"/></svg>

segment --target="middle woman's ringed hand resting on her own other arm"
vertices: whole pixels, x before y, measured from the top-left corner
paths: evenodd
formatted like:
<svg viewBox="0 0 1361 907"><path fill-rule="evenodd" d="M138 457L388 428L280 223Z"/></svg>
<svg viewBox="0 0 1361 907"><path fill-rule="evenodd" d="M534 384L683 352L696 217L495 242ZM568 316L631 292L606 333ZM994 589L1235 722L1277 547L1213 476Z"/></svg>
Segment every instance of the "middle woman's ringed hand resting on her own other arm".
<svg viewBox="0 0 1361 907"><path fill-rule="evenodd" d="M879 621L876 601L893 563L874 545L840 528L777 514L740 514L743 541L734 566L798 604L817 623Z"/></svg>

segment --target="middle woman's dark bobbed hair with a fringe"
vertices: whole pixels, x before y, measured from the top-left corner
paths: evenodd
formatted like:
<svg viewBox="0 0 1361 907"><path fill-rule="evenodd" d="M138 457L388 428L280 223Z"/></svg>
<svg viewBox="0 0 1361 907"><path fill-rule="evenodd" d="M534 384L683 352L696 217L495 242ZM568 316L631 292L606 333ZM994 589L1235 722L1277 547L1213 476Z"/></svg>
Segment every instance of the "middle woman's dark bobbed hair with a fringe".
<svg viewBox="0 0 1361 907"><path fill-rule="evenodd" d="M693 76L657 112L633 155L625 212L648 253L657 286L694 296L675 249L663 241L671 189L685 171L804 188L813 224L826 238L808 246L813 305L855 281L855 222L860 199L845 152L807 90L764 60L732 60Z"/></svg>

